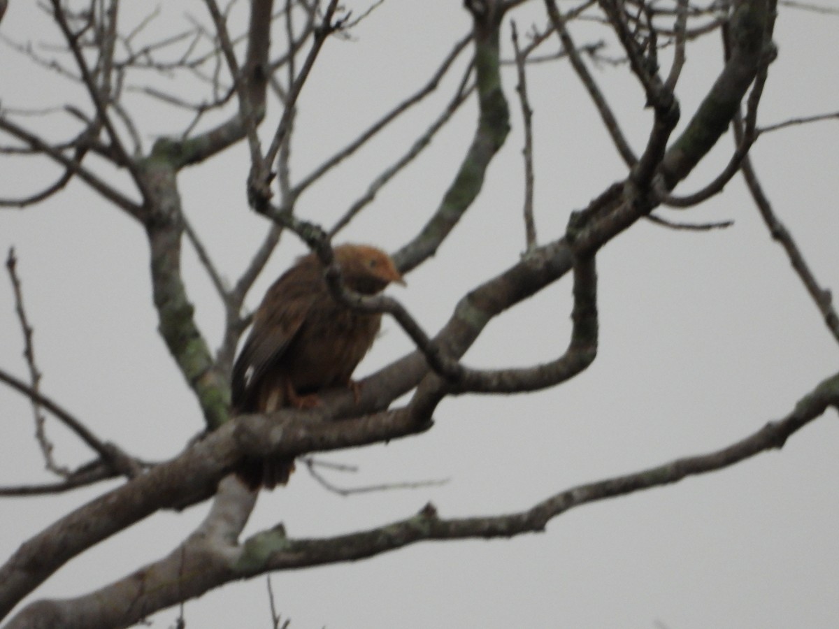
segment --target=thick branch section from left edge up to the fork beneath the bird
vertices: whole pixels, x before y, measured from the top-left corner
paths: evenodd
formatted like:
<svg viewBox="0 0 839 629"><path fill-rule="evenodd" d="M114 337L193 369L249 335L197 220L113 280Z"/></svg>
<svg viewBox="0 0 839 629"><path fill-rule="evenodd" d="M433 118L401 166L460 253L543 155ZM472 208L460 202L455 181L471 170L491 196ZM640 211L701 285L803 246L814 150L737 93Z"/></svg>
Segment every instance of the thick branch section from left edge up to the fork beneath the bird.
<svg viewBox="0 0 839 629"><path fill-rule="evenodd" d="M440 398L439 391L416 394L407 407L340 423L323 412L285 411L279 413L286 418L279 425L276 417L262 415L225 424L174 460L95 498L23 543L0 568L0 618L87 548L160 509L181 508L215 494L218 482L242 456L294 457L415 434L430 427Z"/></svg>

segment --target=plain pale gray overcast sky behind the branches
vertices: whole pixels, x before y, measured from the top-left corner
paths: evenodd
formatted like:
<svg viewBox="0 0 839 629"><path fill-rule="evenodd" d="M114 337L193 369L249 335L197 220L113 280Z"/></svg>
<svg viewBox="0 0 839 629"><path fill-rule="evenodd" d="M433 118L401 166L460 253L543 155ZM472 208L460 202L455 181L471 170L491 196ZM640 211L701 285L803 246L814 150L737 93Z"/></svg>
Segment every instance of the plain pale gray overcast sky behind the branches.
<svg viewBox="0 0 839 629"><path fill-rule="evenodd" d="M197 2L165 4L162 23L167 15L203 11ZM367 4L347 6L361 13ZM0 34L59 41L33 5L12 2ZM127 20L149 6L121 5ZM540 3L529 5L517 18L521 30L539 14ZM388 0L352 40L328 41L300 101L293 177L308 173L414 91L468 28L455 0ZM575 31L577 41L591 32ZM779 8L779 58L770 70L760 124L839 110L837 34L839 16ZM678 91L685 119L719 70L718 48L712 37L689 50ZM641 148L650 118L643 94L623 66L601 71L597 76L628 138ZM446 84L450 91L305 195L300 216L326 225L335 221L425 128L459 78L455 73ZM426 330L436 330L466 290L524 250L522 124L512 67L504 79L513 133L481 196L439 254L411 273L408 287L390 290ZM571 211L625 172L567 65L534 66L529 89L537 125L536 222L540 241L548 242L563 233ZM68 93L78 96L68 90L55 74L3 48L3 107L60 106ZM183 127L180 120L159 117L158 105L138 96L133 102L135 113L151 121L147 143L152 133ZM342 240L389 250L406 242L449 185L471 138L474 113L472 105L459 112ZM60 135L61 119L23 122ZM839 131L831 121L769 133L753 150L775 210L816 277L833 289L839 289L837 145ZM723 138L712 159L678 191L700 187L725 163L731 146ZM4 158L0 195L37 189L44 172L43 164ZM241 273L266 228L248 210L247 173L246 147L240 146L182 178L185 211L228 278ZM18 253L44 392L103 439L149 459L175 455L201 429L202 418L155 329L141 228L77 182L43 205L0 212L0 252L5 256L13 246ZM538 394L451 398L427 434L324 457L359 466L357 474L330 476L344 486L448 479L445 486L344 498L300 471L286 488L260 496L246 533L279 521L294 537L346 533L407 517L429 501L444 517L524 509L577 483L730 444L788 413L836 372L836 343L739 179L698 209L663 212L679 221L731 219L734 226L694 233L642 223L609 243L598 255L600 351L581 376ZM294 237L284 237L248 299L251 307L302 251ZM222 310L191 252L186 264L190 298L215 346ZM563 280L504 314L466 362L524 365L558 355L570 330L570 288ZM393 321L383 327L359 374L409 349ZM0 366L23 377L21 351L12 291L3 278ZM0 417L0 485L47 480L26 400L0 387ZM67 465L89 456L55 423L50 434L56 457ZM293 629L839 626L837 444L839 424L830 411L783 450L675 486L581 507L550 522L542 534L422 543L356 564L274 574L276 603ZM8 557L33 533L104 490L0 499L0 556ZM71 561L35 596L80 595L167 554L207 507L149 517ZM188 626L267 627L265 580L227 585L190 601L185 613ZM161 612L152 618L154 626L170 626L175 614Z"/></svg>

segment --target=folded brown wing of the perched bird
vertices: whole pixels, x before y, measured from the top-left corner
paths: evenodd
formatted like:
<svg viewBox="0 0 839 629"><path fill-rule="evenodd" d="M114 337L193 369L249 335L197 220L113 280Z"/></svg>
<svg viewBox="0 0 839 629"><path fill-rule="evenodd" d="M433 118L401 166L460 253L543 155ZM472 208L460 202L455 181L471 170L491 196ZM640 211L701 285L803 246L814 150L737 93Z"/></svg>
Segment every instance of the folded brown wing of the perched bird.
<svg viewBox="0 0 839 629"><path fill-rule="evenodd" d="M302 288L300 283L283 277L268 290L253 330L233 365L233 408L257 410L248 408L248 398L268 372L282 365L285 352L311 309L312 294Z"/></svg>

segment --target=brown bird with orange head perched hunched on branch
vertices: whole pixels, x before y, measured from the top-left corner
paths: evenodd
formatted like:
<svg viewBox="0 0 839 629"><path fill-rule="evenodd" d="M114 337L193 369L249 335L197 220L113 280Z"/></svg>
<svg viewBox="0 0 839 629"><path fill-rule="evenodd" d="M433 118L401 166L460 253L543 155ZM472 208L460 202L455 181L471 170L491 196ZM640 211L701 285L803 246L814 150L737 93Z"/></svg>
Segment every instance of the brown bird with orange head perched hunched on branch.
<svg viewBox="0 0 839 629"><path fill-rule="evenodd" d="M348 289L380 293L403 283L387 253L364 245L333 249ZM233 366L235 413L271 413L284 406L317 404L315 394L330 387L354 386L350 377L373 345L381 314L339 304L314 254L300 257L265 294L253 329ZM238 474L251 489L284 485L294 460L246 460Z"/></svg>

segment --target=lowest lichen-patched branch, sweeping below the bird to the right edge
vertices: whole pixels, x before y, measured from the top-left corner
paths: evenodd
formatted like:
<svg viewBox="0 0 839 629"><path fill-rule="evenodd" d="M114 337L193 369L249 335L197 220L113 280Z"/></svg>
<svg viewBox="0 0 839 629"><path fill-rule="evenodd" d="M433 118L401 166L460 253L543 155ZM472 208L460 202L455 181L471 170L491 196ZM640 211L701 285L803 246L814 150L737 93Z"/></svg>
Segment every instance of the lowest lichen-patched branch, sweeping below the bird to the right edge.
<svg viewBox="0 0 839 629"><path fill-rule="evenodd" d="M780 448L789 436L821 416L826 408L839 409L839 374L821 382L786 417L766 424L762 429L722 450L696 455L641 470L626 476L571 487L538 502L524 512L500 516L444 519L435 507L426 505L414 517L383 527L334 538L288 538L278 526L264 530L235 544L232 532L241 531L241 517L220 526L203 526L206 538L195 536L168 558L151 564L103 590L74 600L39 601L21 611L8 629L32 626L49 619L52 626L95 627L129 626L145 615L204 594L231 582L273 570L356 561L397 548L428 540L468 538L512 538L522 533L539 533L555 517L589 502L625 496L657 486L681 481L720 470L757 455ZM242 495L242 498L246 497ZM227 500L235 499L236 494ZM240 498L241 499L241 498ZM216 510L221 507L216 506ZM241 513L241 510L234 512ZM218 516L208 521L216 521ZM216 534L213 534L216 533ZM91 600L108 600L107 595L127 593L133 605L127 610L117 606L91 606ZM121 598L120 600L126 600ZM42 625L43 626L43 625Z"/></svg>

